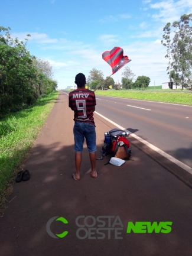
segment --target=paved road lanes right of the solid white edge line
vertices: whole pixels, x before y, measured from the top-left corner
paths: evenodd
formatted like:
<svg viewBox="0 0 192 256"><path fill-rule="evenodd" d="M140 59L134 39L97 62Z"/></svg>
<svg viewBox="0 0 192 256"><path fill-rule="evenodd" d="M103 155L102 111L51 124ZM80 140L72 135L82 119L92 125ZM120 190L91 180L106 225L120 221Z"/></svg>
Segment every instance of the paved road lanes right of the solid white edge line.
<svg viewBox="0 0 192 256"><path fill-rule="evenodd" d="M96 96L96 111L192 167L192 106Z"/></svg>

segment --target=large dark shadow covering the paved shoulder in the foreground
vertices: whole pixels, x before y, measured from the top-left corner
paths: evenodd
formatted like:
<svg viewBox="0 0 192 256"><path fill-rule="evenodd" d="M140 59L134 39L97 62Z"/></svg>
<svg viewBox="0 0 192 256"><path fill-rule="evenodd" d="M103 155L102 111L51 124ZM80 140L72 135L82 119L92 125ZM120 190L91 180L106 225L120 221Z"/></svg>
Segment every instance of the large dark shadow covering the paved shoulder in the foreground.
<svg viewBox="0 0 192 256"><path fill-rule="evenodd" d="M101 148L102 144L97 145L97 157ZM135 161L121 167L104 166L109 158L97 161L98 177L93 179L84 148L82 179L77 182L71 177L73 145L34 147L25 165L31 179L15 184L1 218L2 255L87 255L88 251L90 255L190 255L190 188L137 148L132 149ZM114 231L110 239L107 231L105 239L77 238L75 219L80 215L119 216L123 239L115 239ZM46 232L46 223L54 216L69 222L51 224L53 234L69 231L63 239L51 238ZM129 221L171 221L173 227L170 234L126 234ZM87 223L91 225L92 219ZM85 232L79 234L83 237Z"/></svg>

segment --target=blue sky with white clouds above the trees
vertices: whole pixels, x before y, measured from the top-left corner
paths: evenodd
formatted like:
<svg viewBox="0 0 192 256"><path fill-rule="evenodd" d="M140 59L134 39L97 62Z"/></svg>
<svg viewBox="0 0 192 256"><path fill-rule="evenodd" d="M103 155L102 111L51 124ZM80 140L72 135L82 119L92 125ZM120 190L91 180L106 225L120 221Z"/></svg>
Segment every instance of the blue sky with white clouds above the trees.
<svg viewBox="0 0 192 256"><path fill-rule="evenodd" d="M0 25L20 40L31 34L27 47L53 66L58 89L74 86L76 74L87 77L93 67L109 76L102 53L114 46L132 60L135 79L149 76L153 86L168 80L163 27L191 12L191 0L1 0ZM124 69L113 74L115 82Z"/></svg>

